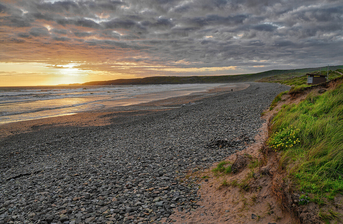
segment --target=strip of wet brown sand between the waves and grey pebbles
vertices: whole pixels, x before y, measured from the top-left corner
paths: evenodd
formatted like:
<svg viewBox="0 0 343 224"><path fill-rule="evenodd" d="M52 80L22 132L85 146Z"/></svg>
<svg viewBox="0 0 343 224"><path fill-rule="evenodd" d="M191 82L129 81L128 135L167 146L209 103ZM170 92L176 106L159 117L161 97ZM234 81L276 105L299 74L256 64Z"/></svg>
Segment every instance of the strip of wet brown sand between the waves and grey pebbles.
<svg viewBox="0 0 343 224"><path fill-rule="evenodd" d="M234 83L236 85L236 83ZM51 126L103 126L109 125L110 114L122 113L122 112L133 112L134 111L147 111L147 113L156 112L160 110L168 110L174 107L180 107L184 103L190 101L197 101L204 98L211 97L216 94L221 94L226 91L230 91L233 88L234 91L240 91L246 89L250 86L247 83L237 83L241 84L238 87L226 87L225 84L208 89L202 92L193 92L184 96L169 97L166 99L152 100L149 102L123 105L123 106L107 106L103 109L97 109L92 111L84 111L66 115L56 115L51 117L43 117L37 119L30 119L24 121L15 121L5 124L0 124L0 136L2 138L20 134L27 133L34 129L46 128ZM227 84L232 85L232 84ZM149 112L150 111L150 112ZM115 115L114 115L115 116ZM1 138L0 137L0 138Z"/></svg>

